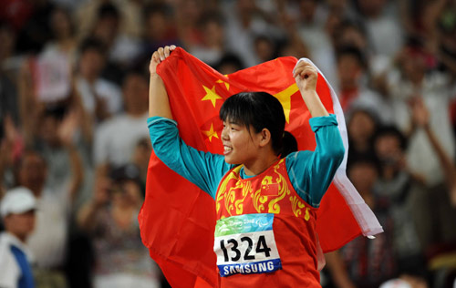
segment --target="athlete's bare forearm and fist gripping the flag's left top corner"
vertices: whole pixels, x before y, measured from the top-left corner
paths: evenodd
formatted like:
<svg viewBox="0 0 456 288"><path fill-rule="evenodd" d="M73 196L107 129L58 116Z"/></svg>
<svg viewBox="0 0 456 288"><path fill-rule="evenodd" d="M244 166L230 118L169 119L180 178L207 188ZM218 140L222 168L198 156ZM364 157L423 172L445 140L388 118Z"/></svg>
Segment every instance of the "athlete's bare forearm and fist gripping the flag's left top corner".
<svg viewBox="0 0 456 288"><path fill-rule="evenodd" d="M160 47L150 58L150 84L149 84L149 117L160 116L172 119L170 101L163 80L157 74L157 66L170 56L176 46Z"/></svg>

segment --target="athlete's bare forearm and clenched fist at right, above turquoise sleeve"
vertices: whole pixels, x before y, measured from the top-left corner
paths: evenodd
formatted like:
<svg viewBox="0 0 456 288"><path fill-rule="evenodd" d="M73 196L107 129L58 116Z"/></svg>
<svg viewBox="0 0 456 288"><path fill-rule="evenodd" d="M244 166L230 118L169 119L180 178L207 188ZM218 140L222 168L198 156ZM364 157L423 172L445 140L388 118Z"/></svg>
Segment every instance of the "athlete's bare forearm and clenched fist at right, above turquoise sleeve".
<svg viewBox="0 0 456 288"><path fill-rule="evenodd" d="M293 77L295 77L296 85L299 87L310 115L312 117L329 116L316 94L316 79L318 78L316 67L309 62L299 60L293 70Z"/></svg>

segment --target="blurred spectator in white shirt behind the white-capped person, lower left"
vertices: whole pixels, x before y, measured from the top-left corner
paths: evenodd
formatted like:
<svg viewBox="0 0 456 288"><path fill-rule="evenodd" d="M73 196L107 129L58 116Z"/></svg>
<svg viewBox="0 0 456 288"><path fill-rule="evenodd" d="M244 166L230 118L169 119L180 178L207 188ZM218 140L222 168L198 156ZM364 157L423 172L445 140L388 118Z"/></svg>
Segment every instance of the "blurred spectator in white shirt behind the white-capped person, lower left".
<svg viewBox="0 0 456 288"><path fill-rule="evenodd" d="M36 197L36 229L28 238L35 256L36 287L67 287L65 264L68 221L71 212L69 190L45 187L47 162L36 151L27 150L17 163L17 183Z"/></svg>

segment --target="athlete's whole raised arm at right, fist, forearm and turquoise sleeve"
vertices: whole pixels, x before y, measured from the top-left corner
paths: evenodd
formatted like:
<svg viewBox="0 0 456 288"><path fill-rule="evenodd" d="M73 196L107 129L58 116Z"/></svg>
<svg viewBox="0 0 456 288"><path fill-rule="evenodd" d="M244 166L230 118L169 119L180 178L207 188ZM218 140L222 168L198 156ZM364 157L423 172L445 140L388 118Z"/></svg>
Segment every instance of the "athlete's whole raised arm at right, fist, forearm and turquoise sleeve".
<svg viewBox="0 0 456 288"><path fill-rule="evenodd" d="M289 155L286 168L299 196L313 207L318 207L344 158L345 149L337 129L336 116L328 114L316 93L316 67L300 60L293 76L312 116L309 122L316 135L316 149Z"/></svg>

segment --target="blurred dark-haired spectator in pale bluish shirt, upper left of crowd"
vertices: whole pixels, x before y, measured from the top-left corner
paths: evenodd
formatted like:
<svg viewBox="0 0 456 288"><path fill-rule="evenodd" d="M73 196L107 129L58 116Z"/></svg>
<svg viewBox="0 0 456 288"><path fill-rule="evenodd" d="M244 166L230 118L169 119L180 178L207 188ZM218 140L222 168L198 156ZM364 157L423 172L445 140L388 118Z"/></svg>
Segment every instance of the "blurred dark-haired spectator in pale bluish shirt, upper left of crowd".
<svg viewBox="0 0 456 288"><path fill-rule="evenodd" d="M101 77L105 66L105 47L95 38L88 38L79 47L76 87L82 104L94 124L119 113L122 99L119 87Z"/></svg>

